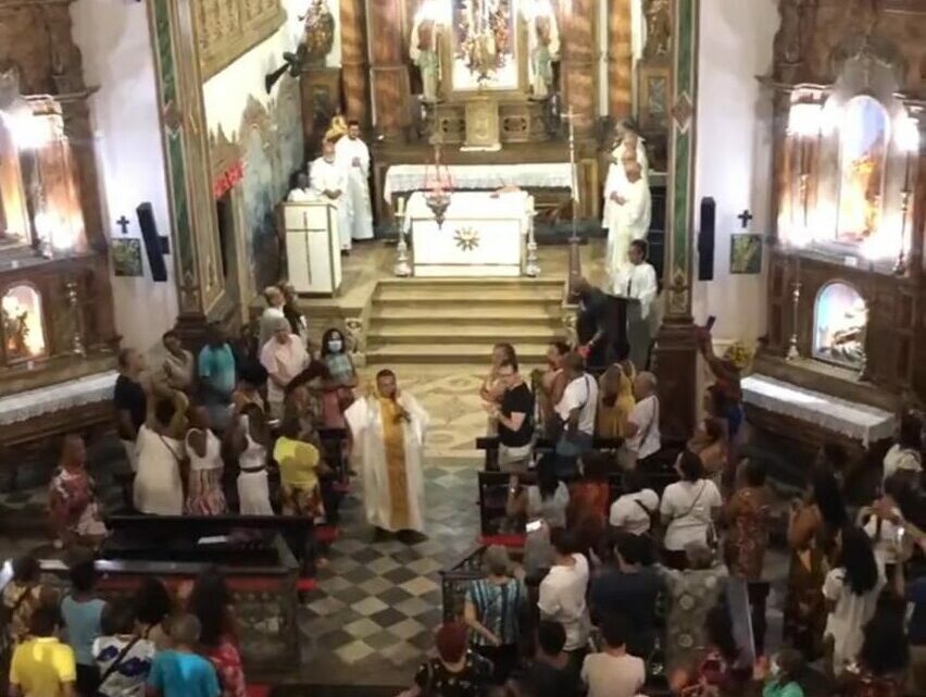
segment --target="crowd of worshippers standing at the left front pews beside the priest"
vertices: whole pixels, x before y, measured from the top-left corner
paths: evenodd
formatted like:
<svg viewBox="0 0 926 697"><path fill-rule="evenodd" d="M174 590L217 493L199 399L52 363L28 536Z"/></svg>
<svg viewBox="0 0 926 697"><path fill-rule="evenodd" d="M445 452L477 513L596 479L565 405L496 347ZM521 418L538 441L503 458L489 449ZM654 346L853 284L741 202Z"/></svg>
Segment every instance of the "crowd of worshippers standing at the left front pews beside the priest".
<svg viewBox="0 0 926 697"><path fill-rule="evenodd" d="M337 507L338 473L320 432L345 428L356 385L348 341L331 328L314 349L291 287L264 296L250 345L213 324L198 356L175 332L155 360L120 352L113 402L139 513L336 516L327 509ZM67 436L49 510L65 546L95 548L107 528L86 460L84 440Z"/></svg>

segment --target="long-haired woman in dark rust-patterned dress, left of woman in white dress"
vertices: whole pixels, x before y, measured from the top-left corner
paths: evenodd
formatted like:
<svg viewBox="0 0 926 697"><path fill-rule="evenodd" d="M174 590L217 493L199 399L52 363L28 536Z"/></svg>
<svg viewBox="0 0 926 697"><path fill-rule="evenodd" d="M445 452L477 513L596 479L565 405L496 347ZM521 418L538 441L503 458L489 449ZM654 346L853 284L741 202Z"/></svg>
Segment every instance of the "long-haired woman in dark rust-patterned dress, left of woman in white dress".
<svg viewBox="0 0 926 697"><path fill-rule="evenodd" d="M848 516L839 483L826 468L812 471L808 499L797 502L788 524L791 562L785 598L784 635L809 661L823 655L826 602L823 582L836 537Z"/></svg>

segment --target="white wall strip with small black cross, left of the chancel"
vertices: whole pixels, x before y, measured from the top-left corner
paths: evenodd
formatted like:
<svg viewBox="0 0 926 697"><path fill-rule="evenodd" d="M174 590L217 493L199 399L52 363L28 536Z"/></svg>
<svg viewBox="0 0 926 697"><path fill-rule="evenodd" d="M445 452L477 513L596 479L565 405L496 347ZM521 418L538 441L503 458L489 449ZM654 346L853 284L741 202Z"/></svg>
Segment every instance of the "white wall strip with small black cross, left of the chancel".
<svg viewBox="0 0 926 697"><path fill-rule="evenodd" d="M103 226L122 237L115 221L130 221L129 237L141 237L135 209L150 201L162 235L171 234L171 216L161 148L154 58L143 2L92 0L71 3L74 39L84 55L88 85L99 86L90 99ZM173 240L172 240L173 251ZM168 278L114 277L116 331L123 345L149 350L177 316L174 265L165 258Z"/></svg>

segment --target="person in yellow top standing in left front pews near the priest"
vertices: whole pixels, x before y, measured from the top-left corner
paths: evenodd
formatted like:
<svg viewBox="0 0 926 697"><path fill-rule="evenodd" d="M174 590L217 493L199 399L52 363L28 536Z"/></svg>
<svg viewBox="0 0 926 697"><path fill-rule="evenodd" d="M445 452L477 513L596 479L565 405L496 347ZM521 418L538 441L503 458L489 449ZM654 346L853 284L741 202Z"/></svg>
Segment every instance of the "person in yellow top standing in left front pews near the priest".
<svg viewBox="0 0 926 697"><path fill-rule="evenodd" d="M284 514L316 520L325 515L318 475L328 472L328 468L320 448L300 439L301 432L299 416L288 412L279 426L273 459L279 465Z"/></svg>

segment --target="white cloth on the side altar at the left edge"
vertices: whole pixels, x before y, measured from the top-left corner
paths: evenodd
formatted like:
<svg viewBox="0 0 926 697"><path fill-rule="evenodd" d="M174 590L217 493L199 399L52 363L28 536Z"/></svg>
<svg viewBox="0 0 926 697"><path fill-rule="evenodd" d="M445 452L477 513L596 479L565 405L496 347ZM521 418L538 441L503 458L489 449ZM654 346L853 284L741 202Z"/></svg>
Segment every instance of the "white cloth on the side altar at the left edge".
<svg viewBox="0 0 926 697"><path fill-rule="evenodd" d="M113 398L116 371L95 373L57 385L0 397L0 426L8 426L42 414L84 407Z"/></svg>

